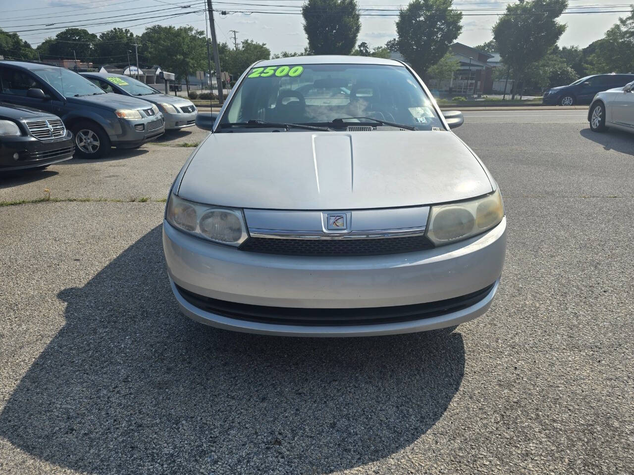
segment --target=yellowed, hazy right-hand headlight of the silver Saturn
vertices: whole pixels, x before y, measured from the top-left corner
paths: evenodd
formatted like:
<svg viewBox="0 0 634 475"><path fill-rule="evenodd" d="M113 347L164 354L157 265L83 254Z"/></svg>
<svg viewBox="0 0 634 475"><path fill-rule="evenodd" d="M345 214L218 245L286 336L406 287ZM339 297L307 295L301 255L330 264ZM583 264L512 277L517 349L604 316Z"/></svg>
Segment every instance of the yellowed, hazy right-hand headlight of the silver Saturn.
<svg viewBox="0 0 634 475"><path fill-rule="evenodd" d="M475 200L432 206L427 238L436 246L467 239L500 224L504 205L500 190Z"/></svg>

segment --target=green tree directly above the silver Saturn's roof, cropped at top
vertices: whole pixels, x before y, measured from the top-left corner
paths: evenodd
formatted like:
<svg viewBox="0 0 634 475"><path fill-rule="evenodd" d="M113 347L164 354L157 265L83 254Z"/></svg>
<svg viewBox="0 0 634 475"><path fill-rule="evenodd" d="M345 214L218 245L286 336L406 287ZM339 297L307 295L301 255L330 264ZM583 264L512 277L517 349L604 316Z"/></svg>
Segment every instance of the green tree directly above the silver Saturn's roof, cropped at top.
<svg viewBox="0 0 634 475"><path fill-rule="evenodd" d="M308 0L304 32L313 54L350 54L361 30L356 0Z"/></svg>

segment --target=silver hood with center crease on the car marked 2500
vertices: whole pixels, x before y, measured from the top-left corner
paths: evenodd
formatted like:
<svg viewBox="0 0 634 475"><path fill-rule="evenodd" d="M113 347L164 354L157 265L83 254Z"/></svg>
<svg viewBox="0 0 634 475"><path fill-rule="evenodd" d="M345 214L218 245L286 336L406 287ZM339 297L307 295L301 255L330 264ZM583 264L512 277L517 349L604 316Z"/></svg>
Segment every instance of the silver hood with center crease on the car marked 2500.
<svg viewBox="0 0 634 475"><path fill-rule="evenodd" d="M484 167L451 132L223 132L195 151L178 195L238 208L353 210L491 191Z"/></svg>

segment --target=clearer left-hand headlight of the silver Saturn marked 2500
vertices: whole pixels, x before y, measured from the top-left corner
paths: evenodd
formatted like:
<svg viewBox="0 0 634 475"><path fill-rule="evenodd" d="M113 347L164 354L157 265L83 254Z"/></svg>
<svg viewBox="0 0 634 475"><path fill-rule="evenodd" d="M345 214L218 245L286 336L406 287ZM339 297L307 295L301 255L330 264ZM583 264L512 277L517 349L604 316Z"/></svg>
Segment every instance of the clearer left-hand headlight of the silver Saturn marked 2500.
<svg viewBox="0 0 634 475"><path fill-rule="evenodd" d="M180 231L214 243L240 246L249 237L242 210L202 205L173 193L165 219Z"/></svg>

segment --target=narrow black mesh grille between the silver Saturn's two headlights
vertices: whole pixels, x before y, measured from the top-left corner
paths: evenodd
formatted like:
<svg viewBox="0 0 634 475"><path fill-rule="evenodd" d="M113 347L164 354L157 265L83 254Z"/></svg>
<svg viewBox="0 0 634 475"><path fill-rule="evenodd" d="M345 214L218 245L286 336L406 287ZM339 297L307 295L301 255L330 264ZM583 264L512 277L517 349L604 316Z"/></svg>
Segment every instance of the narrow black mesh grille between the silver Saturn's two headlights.
<svg viewBox="0 0 634 475"><path fill-rule="evenodd" d="M374 256L433 248L425 236L373 239L249 238L240 250L289 256Z"/></svg>

